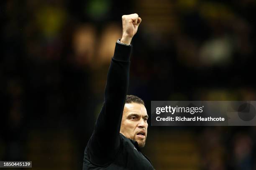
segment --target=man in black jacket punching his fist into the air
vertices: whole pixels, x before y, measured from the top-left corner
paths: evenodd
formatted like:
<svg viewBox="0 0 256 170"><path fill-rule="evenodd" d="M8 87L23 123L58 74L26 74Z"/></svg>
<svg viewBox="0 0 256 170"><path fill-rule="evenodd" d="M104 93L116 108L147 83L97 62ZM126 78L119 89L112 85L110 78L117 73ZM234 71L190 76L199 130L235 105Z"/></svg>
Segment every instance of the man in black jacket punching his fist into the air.
<svg viewBox="0 0 256 170"><path fill-rule="evenodd" d="M115 46L108 70L105 98L95 129L84 150L83 170L153 170L140 151L144 147L148 115L144 102L127 95L133 36L141 18L123 15L123 36Z"/></svg>

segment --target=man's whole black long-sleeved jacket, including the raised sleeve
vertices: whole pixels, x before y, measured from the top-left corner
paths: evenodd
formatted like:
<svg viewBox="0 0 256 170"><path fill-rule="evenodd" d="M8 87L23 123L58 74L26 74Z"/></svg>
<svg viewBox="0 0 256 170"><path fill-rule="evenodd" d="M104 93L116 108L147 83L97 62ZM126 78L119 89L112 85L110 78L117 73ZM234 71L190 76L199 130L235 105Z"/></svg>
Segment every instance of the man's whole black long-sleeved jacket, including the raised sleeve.
<svg viewBox="0 0 256 170"><path fill-rule="evenodd" d="M154 170L134 140L120 133L129 83L131 46L116 43L104 104L84 150L83 170Z"/></svg>

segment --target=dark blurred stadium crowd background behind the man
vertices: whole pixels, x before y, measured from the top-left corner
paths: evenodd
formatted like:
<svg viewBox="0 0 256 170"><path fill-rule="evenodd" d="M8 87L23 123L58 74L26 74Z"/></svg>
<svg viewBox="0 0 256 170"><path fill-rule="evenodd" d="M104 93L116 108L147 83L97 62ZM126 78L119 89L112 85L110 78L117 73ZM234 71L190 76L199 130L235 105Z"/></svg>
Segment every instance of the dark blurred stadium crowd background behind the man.
<svg viewBox="0 0 256 170"><path fill-rule="evenodd" d="M128 94L148 114L151 100L256 100L255 10L255 0L1 1L0 160L82 170L124 14L142 18ZM255 141L255 127L149 126L143 153L156 170L255 170Z"/></svg>

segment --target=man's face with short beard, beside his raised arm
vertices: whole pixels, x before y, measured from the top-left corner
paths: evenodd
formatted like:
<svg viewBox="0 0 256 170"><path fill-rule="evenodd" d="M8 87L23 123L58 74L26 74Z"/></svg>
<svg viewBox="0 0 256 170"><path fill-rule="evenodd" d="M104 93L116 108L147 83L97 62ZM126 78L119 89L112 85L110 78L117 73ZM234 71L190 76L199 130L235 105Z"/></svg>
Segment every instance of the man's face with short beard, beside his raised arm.
<svg viewBox="0 0 256 170"><path fill-rule="evenodd" d="M147 138L148 114L146 107L135 102L126 103L123 109L120 133L126 138L137 141L139 147L144 147Z"/></svg>

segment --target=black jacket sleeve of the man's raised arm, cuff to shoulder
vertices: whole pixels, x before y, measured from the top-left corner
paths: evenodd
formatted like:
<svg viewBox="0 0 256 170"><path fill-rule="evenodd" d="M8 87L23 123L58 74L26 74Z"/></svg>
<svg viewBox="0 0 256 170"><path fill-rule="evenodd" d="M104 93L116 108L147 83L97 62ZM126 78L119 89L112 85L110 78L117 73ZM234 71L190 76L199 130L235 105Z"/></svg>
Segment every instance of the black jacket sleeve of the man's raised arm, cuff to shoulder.
<svg viewBox="0 0 256 170"><path fill-rule="evenodd" d="M108 70L104 103L94 132L87 144L92 163L105 165L112 161L120 146L120 125L129 83L131 46L116 43Z"/></svg>

